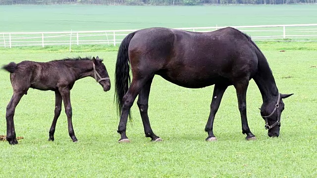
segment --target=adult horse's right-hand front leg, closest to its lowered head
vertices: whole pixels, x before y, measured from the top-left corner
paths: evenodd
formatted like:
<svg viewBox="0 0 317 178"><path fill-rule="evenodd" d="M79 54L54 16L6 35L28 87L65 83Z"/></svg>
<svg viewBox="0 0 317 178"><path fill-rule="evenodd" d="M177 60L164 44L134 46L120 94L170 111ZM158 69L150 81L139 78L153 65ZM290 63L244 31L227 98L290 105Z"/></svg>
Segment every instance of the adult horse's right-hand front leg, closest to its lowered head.
<svg viewBox="0 0 317 178"><path fill-rule="evenodd" d="M248 120L247 120L247 89L249 85L249 78L244 80L237 81L234 84L234 87L237 92L238 97L238 106L241 115L241 124L242 124L242 134L247 134L246 139L256 139L256 136L251 133Z"/></svg>

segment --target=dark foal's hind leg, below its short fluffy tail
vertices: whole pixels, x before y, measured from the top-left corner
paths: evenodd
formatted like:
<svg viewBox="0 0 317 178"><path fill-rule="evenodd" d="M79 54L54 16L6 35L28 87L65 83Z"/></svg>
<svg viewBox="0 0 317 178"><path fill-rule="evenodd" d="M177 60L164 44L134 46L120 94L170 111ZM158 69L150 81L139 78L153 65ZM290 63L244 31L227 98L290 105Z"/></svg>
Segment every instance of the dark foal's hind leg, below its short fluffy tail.
<svg viewBox="0 0 317 178"><path fill-rule="evenodd" d="M14 113L15 113L15 107L20 102L24 93L25 92L14 92L9 104L6 107L6 114L5 114L6 140L10 144L17 144L18 143L18 141L16 140L16 135L15 135L13 117L14 117Z"/></svg>

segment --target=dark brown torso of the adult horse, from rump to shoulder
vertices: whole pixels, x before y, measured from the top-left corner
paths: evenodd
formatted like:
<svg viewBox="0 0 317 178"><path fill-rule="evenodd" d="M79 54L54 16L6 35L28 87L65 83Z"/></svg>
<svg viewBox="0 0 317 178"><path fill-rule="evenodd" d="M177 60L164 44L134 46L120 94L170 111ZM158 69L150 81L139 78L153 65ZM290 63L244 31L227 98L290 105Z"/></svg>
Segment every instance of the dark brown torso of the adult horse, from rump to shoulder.
<svg viewBox="0 0 317 178"><path fill-rule="evenodd" d="M129 59L132 72L155 71L188 88L219 82L232 85L234 78L250 77L257 68L257 55L250 39L230 27L209 33L143 29L135 32L130 42Z"/></svg>

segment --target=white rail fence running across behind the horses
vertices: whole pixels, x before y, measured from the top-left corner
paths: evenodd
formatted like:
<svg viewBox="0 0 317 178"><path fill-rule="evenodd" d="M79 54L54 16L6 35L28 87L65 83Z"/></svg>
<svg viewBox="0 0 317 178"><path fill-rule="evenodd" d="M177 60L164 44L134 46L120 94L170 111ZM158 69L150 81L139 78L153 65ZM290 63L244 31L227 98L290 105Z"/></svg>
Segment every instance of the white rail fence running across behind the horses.
<svg viewBox="0 0 317 178"><path fill-rule="evenodd" d="M254 41L317 42L317 24L231 26L251 36ZM192 32L211 32L224 27L178 28ZM136 30L78 32L0 33L0 47L84 44L120 44Z"/></svg>

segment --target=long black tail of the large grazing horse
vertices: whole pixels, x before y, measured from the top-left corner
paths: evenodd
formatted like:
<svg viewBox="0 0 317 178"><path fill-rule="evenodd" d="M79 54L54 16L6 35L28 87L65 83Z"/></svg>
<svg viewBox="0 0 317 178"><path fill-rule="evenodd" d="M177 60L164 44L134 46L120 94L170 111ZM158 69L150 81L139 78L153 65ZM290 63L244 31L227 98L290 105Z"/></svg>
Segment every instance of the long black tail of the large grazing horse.
<svg viewBox="0 0 317 178"><path fill-rule="evenodd" d="M123 107L123 96L129 89L129 85L131 83L130 79L130 61L128 48L131 39L134 36L134 32L130 33L126 36L118 51L117 62L115 64L115 92L114 95L117 101L117 112L121 114L121 110ZM131 118L129 111L129 118Z"/></svg>

